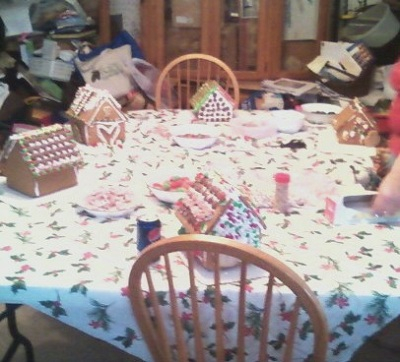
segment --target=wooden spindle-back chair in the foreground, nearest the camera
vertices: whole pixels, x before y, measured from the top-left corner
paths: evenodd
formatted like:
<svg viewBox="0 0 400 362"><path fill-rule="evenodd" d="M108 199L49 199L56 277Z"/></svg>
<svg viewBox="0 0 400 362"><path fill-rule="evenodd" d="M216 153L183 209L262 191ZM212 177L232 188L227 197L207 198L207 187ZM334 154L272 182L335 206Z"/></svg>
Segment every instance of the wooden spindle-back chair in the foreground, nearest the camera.
<svg viewBox="0 0 400 362"><path fill-rule="evenodd" d="M211 278L213 281L208 286L204 285L204 281L202 284L201 278L196 274L195 267L201 268L196 259L199 250L211 253L209 255L214 258L214 270L207 271L213 276L213 279ZM172 253L175 253L175 256ZM181 261L183 259L184 263L187 264L187 272L174 275L174 266L177 268L175 263L179 260L176 259L177 253L180 255ZM236 331L235 337L229 339L234 342L234 352L228 349L224 340L227 328L226 321L229 319L224 320L223 316L229 303L226 303L227 294L223 294L223 291L226 291L224 287L227 287L223 276L230 275L232 271L221 270L219 265L221 260L226 260L222 259L226 258L226 256L234 257L241 261L236 271L237 282L229 284L229 288L231 288L229 296L237 300L237 303L232 307L233 310L230 310L230 320L235 321ZM156 264L154 264L155 260L158 260ZM165 269L164 267L159 267L162 264L165 265ZM257 293L262 293L264 299L263 301L262 299L260 300L260 305L257 304L257 311L263 310L262 317L258 321L260 333L259 340L256 343L257 348L254 345L247 346L247 351L252 350L252 353L256 353L256 356L252 356L254 358L250 358L245 354L246 343L248 343L246 332L251 329L247 318L249 317L249 297L252 296L252 293L246 291L250 271L253 270L250 268L256 268L256 270L261 271L263 278L265 278L265 289L257 290ZM157 277L155 275L160 278L161 273L163 273L162 280L165 288L160 290L158 284L158 290L156 290L155 278L157 279ZM183 282L182 278L187 278L187 281ZM185 283L188 286L185 286ZM237 287L236 294L232 292L233 285ZM273 305L277 300L277 295L278 299L279 296L282 296L282 285L287 287L284 287L284 297L286 298L287 294L292 297L290 303L288 302L287 304L288 309L286 309L286 311L290 310L291 317L289 322L282 322L282 326L280 323L277 326L276 318L273 319L272 315L275 311L278 314L277 318L281 320L279 316L282 312L281 304L277 305L276 308ZM211 289L208 289L210 287ZM276 291L276 288L280 290ZM207 308L204 305L205 289L215 293L209 295L210 301L211 299L214 301L214 310L211 312L211 317L208 315L208 319L202 314L205 311L204 308ZM210 349L213 350L211 354L215 354L216 361L225 361L227 351L236 354L236 359L232 359L235 361L269 361L270 351L274 350L269 342L276 339L276 328L278 328L279 332L286 330L282 359L279 360L283 362L292 361L293 347L297 343L296 334L301 330L301 326L308 325L308 320L310 321L309 327L311 329L307 328L307 331L315 332L311 333L314 337L313 344L311 344L313 350L310 350L313 358L310 361L325 362L328 328L324 312L315 294L305 281L287 265L252 246L223 237L195 234L157 241L147 247L135 261L129 278L129 290L134 315L149 351L157 362L174 360L208 361L210 360ZM182 299L180 298L185 293L185 305L183 307ZM165 298L161 297L162 295ZM208 308L212 310L210 304L208 304ZM293 309L290 309L289 305ZM300 312L302 312L301 317L299 317ZM189 327L188 320L183 318L184 315L191 316L190 322L192 324ZM204 345L203 342L205 330L203 329L202 332L202 328L210 325L210 323L205 322L206 320L211 320L215 324L213 327L215 329L215 340L213 340L212 345L209 342ZM275 328L275 332L269 334L270 328ZM190 339L187 335L188 331ZM207 333L209 331L210 329L207 330ZM254 342L255 339L252 339L252 341Z"/></svg>

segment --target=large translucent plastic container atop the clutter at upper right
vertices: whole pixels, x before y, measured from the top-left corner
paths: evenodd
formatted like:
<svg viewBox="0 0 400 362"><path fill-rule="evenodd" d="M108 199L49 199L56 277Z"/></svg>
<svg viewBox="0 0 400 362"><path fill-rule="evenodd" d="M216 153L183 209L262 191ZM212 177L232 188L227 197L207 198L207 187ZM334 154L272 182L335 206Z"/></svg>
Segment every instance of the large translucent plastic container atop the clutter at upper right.
<svg viewBox="0 0 400 362"><path fill-rule="evenodd" d="M376 4L350 20L342 30L342 38L362 41L371 48L390 42L399 32L400 23L385 3Z"/></svg>

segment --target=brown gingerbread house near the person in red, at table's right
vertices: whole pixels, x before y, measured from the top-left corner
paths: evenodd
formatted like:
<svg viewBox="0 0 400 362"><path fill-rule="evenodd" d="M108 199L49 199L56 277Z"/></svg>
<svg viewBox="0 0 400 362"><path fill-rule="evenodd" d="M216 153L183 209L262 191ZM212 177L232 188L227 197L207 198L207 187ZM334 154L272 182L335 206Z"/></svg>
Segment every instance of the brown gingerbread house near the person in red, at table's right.
<svg viewBox="0 0 400 362"><path fill-rule="evenodd" d="M380 142L375 119L357 98L334 117L332 126L339 143L375 147Z"/></svg>

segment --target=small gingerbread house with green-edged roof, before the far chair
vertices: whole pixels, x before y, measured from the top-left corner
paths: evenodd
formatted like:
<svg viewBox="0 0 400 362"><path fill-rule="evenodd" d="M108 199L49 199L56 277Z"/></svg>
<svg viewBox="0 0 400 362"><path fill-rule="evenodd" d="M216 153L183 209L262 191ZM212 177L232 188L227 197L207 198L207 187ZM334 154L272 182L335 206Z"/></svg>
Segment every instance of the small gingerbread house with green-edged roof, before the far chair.
<svg viewBox="0 0 400 362"><path fill-rule="evenodd" d="M216 81L204 83L190 104L201 121L226 122L233 117L234 100Z"/></svg>

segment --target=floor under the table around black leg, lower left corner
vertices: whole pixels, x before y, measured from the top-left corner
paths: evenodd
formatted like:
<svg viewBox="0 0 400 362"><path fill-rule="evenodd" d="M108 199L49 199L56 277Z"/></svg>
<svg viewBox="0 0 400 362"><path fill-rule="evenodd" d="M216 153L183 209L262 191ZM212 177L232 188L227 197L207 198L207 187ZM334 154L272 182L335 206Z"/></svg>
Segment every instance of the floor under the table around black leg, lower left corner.
<svg viewBox="0 0 400 362"><path fill-rule="evenodd" d="M4 308L0 305L0 312ZM35 362L139 362L108 343L99 341L54 318L23 306L17 309L20 332L33 344ZM0 359L10 342L5 321L0 323ZM25 351L19 347L12 362L25 362Z"/></svg>

